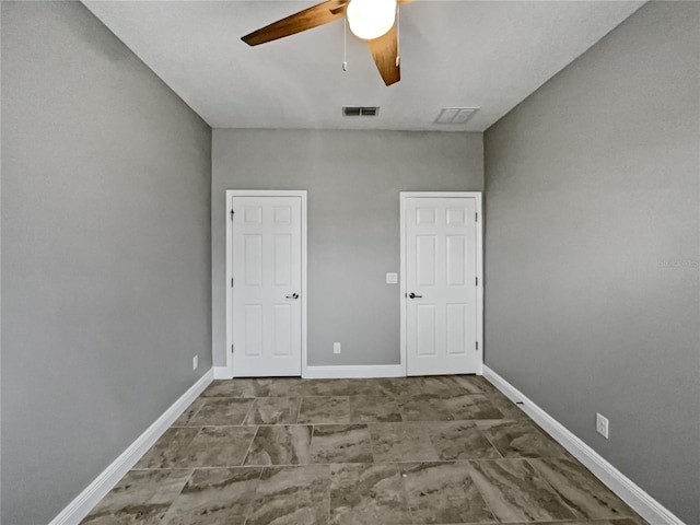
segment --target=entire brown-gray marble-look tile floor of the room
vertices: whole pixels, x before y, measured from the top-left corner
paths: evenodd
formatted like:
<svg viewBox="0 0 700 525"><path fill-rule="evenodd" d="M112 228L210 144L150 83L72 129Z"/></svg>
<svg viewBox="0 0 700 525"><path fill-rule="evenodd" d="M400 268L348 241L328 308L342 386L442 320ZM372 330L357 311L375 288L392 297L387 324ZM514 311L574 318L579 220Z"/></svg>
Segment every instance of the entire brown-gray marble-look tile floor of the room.
<svg viewBox="0 0 700 525"><path fill-rule="evenodd" d="M212 383L83 524L645 525L482 377Z"/></svg>

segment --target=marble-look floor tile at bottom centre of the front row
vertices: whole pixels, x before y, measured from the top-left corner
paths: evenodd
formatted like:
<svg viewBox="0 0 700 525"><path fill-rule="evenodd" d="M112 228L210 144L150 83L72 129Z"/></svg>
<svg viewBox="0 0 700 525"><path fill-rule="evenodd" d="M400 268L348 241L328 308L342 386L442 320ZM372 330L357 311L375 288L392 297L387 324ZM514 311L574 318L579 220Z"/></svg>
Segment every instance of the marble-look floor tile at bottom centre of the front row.
<svg viewBox="0 0 700 525"><path fill-rule="evenodd" d="M410 523L395 464L330 466L330 525Z"/></svg>

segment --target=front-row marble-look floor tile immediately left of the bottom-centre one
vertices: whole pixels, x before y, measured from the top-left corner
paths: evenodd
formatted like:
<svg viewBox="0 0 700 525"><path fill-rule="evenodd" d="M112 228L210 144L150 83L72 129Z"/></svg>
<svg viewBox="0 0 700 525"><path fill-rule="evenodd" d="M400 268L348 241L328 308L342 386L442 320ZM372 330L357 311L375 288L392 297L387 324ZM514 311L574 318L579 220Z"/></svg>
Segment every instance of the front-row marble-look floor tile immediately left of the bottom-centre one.
<svg viewBox="0 0 700 525"><path fill-rule="evenodd" d="M328 465L266 467L246 525L326 525Z"/></svg>

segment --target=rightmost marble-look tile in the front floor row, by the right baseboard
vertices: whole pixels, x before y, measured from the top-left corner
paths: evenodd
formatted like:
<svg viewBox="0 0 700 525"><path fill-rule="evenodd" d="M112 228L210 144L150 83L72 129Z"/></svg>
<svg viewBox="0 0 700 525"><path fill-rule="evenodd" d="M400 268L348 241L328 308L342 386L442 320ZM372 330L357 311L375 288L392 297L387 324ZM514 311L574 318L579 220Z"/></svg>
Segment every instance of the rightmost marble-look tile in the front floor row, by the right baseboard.
<svg viewBox="0 0 700 525"><path fill-rule="evenodd" d="M637 514L575 459L529 459L576 517L634 517Z"/></svg>

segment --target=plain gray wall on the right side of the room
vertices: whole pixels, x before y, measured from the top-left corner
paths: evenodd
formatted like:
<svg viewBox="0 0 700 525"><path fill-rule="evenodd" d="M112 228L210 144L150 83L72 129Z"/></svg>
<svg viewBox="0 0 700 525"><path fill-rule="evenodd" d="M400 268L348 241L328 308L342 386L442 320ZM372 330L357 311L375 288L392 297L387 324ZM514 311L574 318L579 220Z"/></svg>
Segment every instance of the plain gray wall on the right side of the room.
<svg viewBox="0 0 700 525"><path fill-rule="evenodd" d="M689 525L698 27L698 3L644 5L485 136L487 364Z"/></svg>

